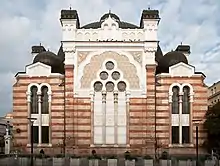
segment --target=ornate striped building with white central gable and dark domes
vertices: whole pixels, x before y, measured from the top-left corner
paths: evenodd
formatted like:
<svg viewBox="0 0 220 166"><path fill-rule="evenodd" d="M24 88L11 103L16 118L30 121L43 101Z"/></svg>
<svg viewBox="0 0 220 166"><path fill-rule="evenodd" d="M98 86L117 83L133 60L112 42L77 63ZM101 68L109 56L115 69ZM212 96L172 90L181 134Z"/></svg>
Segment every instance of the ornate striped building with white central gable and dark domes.
<svg viewBox="0 0 220 166"><path fill-rule="evenodd" d="M195 125L207 110L205 76L188 63L190 46L163 55L157 10L140 26L113 14L80 26L76 10L61 11L59 52L33 46L33 62L13 86L15 146L66 153L194 153ZM205 139L199 127L199 143Z"/></svg>

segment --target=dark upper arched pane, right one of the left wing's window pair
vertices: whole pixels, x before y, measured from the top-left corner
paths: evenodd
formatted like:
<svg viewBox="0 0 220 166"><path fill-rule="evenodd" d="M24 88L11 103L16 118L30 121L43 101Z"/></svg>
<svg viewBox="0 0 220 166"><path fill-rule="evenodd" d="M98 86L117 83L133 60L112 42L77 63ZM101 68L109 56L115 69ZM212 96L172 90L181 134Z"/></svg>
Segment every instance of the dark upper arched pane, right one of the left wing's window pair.
<svg viewBox="0 0 220 166"><path fill-rule="evenodd" d="M48 103L48 88L44 86L41 89L41 112L42 114L48 114L49 113L49 103Z"/></svg>

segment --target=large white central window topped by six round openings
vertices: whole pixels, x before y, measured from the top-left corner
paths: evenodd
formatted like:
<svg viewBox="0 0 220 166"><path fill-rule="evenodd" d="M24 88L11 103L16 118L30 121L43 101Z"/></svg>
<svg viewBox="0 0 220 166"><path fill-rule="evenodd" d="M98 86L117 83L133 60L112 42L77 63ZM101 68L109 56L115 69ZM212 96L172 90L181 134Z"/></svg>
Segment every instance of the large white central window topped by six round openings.
<svg viewBox="0 0 220 166"><path fill-rule="evenodd" d="M94 83L94 144L126 145L127 84L113 61L103 65Z"/></svg>

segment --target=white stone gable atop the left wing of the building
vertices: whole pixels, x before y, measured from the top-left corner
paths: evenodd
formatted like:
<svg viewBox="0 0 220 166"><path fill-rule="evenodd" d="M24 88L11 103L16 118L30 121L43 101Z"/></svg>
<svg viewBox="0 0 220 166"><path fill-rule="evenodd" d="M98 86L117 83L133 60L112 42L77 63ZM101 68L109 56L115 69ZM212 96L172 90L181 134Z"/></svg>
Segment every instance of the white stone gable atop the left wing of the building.
<svg viewBox="0 0 220 166"><path fill-rule="evenodd" d="M41 62L37 62L26 67L26 74L31 77L49 76L51 75L51 67Z"/></svg>

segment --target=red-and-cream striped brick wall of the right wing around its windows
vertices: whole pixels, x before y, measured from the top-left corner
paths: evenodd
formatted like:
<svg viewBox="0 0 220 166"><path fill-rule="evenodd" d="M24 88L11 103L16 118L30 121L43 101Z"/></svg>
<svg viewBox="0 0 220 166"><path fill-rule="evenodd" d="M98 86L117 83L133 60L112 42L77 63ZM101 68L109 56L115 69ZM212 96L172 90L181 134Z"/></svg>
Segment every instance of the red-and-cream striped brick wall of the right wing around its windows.
<svg viewBox="0 0 220 166"><path fill-rule="evenodd" d="M208 104L208 89L203 83L202 76L194 77L159 77L158 82L161 86L157 86L157 138L163 148L168 148L170 143L170 117L171 108L168 102L169 98L169 87L172 83L189 83L192 85L194 90L193 103L191 106L191 120L193 119L204 119L207 111ZM192 124L191 124L192 125ZM192 128L192 144L195 145L195 126ZM199 126L199 144L201 145L206 138L203 126ZM187 150L191 148L195 149L194 146L188 148L170 148L172 153L188 153ZM180 150L182 149L182 150ZM193 151L192 151L193 152Z"/></svg>

